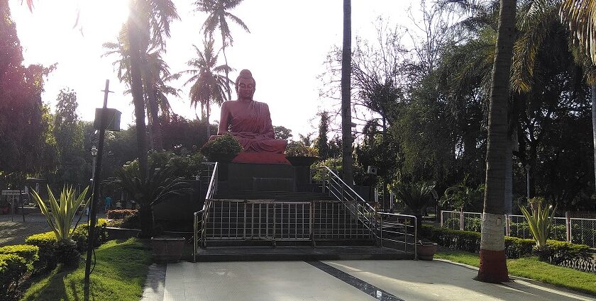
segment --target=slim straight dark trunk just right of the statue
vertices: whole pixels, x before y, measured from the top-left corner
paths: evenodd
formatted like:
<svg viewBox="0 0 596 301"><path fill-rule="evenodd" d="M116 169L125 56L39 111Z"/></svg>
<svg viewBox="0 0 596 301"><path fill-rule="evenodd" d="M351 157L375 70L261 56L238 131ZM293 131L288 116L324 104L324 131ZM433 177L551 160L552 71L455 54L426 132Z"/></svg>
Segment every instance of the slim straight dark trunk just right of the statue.
<svg viewBox="0 0 596 301"><path fill-rule="evenodd" d="M352 59L352 5L343 0L343 48L341 51L341 167L343 181L354 183L352 170L352 110L351 110L351 59Z"/></svg>

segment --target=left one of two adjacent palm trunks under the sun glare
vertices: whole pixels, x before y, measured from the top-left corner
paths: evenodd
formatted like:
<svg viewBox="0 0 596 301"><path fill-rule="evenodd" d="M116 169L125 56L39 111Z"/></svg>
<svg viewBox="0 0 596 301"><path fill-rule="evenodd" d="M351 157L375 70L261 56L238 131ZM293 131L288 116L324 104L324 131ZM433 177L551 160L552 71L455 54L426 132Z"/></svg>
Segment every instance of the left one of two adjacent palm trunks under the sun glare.
<svg viewBox="0 0 596 301"><path fill-rule="evenodd" d="M131 2L130 15L128 17L128 41L131 51L131 91L135 106L136 132L137 132L137 156L139 172L142 180L147 173L147 133L145 126L145 101L143 101L143 81L140 73L140 30L135 24L133 16L136 16L135 6Z"/></svg>

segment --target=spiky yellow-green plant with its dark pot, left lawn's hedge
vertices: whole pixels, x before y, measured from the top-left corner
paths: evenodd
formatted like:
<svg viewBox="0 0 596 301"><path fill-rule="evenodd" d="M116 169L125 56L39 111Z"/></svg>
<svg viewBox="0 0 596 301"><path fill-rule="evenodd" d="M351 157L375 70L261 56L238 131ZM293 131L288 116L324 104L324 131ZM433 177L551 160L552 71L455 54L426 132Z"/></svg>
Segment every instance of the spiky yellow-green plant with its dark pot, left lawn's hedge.
<svg viewBox="0 0 596 301"><path fill-rule="evenodd" d="M75 188L65 186L62 193L60 193L60 199L56 200L50 186L48 186L51 211L48 210L37 191L31 189L33 200L39 205L50 229L56 235L54 256L57 263L62 263L62 268L76 268L79 266L80 254L77 251L77 244L72 240L72 234L75 232L72 221L75 219L75 214L79 208L87 207L87 204L91 203L89 200L85 200L88 189L89 187L85 188L77 196Z"/></svg>

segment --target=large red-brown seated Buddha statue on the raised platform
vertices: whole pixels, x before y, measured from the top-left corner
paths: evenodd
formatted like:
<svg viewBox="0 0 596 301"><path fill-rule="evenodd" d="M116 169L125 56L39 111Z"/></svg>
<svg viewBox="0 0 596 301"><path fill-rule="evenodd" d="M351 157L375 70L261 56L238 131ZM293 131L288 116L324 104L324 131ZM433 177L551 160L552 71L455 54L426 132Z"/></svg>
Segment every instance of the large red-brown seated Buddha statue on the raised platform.
<svg viewBox="0 0 596 301"><path fill-rule="evenodd" d="M269 106L253 100L255 84L250 71L240 72L236 79L238 100L221 105L217 135L228 132L242 144L244 151L234 162L289 164L283 154L287 141L275 139Z"/></svg>

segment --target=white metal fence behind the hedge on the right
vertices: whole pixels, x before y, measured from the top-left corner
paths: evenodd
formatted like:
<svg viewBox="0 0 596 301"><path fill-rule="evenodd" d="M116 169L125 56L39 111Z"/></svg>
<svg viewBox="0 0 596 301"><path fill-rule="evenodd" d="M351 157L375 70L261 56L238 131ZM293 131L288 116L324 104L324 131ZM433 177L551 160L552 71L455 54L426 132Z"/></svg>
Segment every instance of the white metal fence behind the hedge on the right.
<svg viewBox="0 0 596 301"><path fill-rule="evenodd" d="M460 218L463 215L463 219ZM463 211L441 211L441 227L480 232L482 213ZM524 215L505 215L503 227L507 236L531 239L528 223ZM555 217L555 225L550 239L573 244L587 244L596 248L596 219Z"/></svg>

